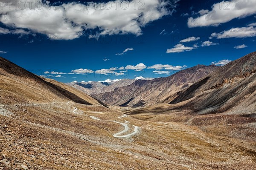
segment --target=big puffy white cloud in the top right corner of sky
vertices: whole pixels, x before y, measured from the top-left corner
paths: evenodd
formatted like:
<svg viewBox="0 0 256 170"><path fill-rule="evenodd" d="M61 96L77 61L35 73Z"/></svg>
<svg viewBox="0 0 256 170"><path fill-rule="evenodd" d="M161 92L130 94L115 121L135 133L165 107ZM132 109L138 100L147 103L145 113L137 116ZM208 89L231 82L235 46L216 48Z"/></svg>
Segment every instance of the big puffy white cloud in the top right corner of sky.
<svg viewBox="0 0 256 170"><path fill-rule="evenodd" d="M200 17L188 19L188 26L218 26L235 18L242 18L256 13L254 0L231 0L215 3L212 10L200 10Z"/></svg>

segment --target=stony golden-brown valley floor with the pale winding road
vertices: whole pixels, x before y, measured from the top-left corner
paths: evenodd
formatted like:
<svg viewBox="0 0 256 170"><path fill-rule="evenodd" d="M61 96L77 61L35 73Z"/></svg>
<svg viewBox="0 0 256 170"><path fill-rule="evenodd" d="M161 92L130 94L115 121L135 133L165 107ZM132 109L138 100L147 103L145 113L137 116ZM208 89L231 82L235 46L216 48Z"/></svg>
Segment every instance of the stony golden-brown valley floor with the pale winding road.
<svg viewBox="0 0 256 170"><path fill-rule="evenodd" d="M0 169L255 170L250 116L126 116L68 101L0 106Z"/></svg>

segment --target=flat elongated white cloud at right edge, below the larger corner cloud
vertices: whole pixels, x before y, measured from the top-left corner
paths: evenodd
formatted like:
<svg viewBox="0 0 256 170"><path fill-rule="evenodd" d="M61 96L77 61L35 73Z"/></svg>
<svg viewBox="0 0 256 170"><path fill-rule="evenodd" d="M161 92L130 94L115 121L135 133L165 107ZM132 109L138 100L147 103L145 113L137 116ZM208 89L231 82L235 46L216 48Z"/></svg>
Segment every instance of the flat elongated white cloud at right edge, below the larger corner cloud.
<svg viewBox="0 0 256 170"><path fill-rule="evenodd" d="M254 37L256 36L256 28L253 28L253 26L249 27L241 27L241 28L232 28L227 31L223 31L220 33L212 33L211 37L216 37L217 39L221 38L244 38L244 37Z"/></svg>

